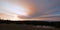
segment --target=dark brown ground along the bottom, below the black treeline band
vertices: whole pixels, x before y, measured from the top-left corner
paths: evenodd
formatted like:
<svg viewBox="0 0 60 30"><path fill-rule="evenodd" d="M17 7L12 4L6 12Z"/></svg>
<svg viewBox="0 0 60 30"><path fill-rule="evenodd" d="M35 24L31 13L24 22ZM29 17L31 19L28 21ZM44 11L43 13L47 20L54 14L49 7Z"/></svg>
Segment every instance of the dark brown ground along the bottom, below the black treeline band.
<svg viewBox="0 0 60 30"><path fill-rule="evenodd" d="M0 30L60 30L60 28L37 27L23 24L0 24Z"/></svg>

